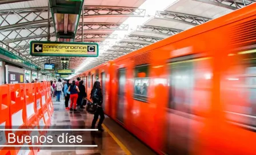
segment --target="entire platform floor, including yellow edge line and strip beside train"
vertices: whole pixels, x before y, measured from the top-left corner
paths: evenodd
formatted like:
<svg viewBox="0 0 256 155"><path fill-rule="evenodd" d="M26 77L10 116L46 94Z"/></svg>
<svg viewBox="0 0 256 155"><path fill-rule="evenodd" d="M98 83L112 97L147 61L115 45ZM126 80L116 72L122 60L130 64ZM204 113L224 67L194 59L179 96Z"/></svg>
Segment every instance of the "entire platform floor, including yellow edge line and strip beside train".
<svg viewBox="0 0 256 155"><path fill-rule="evenodd" d="M55 101L53 97L54 113L51 117L51 126L65 127L65 129L84 129L89 128L93 115L86 113L85 110L79 109L77 112L66 111L63 96L61 101ZM40 150L38 155L104 155L104 154L147 154L154 155L155 153L144 145L141 141L115 123L109 117L105 117L103 122L104 132L81 131L79 134L90 135L91 144L101 145L98 148L90 148L85 150ZM83 133L84 132L84 133ZM91 138L91 137L90 137Z"/></svg>

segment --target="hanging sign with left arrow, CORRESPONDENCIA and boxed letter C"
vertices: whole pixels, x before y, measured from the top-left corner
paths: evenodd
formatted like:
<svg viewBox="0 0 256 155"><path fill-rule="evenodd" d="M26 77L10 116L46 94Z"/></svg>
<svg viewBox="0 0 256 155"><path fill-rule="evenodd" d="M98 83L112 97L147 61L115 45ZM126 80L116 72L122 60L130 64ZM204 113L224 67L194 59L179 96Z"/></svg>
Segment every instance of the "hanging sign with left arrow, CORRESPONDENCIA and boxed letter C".
<svg viewBox="0 0 256 155"><path fill-rule="evenodd" d="M31 41L30 55L98 57L99 45L97 43Z"/></svg>

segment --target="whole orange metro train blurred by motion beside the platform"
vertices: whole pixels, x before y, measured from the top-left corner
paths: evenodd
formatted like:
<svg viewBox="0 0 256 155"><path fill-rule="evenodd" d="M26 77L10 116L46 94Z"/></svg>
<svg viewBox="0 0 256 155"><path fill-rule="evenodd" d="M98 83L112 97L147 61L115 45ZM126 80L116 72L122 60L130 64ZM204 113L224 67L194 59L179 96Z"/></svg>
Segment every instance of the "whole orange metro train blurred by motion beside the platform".
<svg viewBox="0 0 256 155"><path fill-rule="evenodd" d="M256 4L77 77L159 154L256 154Z"/></svg>

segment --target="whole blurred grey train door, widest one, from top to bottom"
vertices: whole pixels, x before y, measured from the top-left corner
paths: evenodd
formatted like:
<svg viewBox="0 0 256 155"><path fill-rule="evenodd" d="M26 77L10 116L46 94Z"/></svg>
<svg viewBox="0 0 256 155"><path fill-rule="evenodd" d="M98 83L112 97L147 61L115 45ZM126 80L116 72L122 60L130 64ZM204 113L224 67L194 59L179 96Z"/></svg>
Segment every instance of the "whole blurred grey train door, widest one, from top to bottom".
<svg viewBox="0 0 256 155"><path fill-rule="evenodd" d="M209 108L211 68L210 58L182 56L169 63L169 105L167 111L167 154L190 154L201 127L202 115ZM194 110L196 109L196 111Z"/></svg>

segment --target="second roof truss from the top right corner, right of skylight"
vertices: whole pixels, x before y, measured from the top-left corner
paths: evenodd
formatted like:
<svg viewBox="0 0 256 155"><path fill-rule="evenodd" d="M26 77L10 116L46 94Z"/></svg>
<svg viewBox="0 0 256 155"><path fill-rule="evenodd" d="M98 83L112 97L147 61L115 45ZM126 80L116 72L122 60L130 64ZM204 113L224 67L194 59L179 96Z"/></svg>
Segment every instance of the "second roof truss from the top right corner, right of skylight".
<svg viewBox="0 0 256 155"><path fill-rule="evenodd" d="M193 25L193 26L197 26L211 20L210 18L206 18L206 17L200 17L197 15L191 15L191 14L176 13L173 11L156 11L154 18L163 19L166 21L185 23L187 25Z"/></svg>

